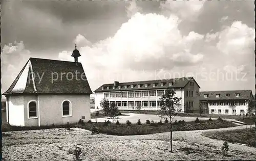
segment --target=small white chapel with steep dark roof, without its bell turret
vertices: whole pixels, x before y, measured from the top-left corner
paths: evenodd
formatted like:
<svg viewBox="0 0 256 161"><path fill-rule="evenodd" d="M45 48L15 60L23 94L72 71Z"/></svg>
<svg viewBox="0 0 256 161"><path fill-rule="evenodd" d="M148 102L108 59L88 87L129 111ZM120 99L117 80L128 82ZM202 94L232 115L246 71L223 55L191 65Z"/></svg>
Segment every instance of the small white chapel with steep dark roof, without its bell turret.
<svg viewBox="0 0 256 161"><path fill-rule="evenodd" d="M71 78L72 74L77 78ZM90 94L81 63L30 58L4 93L7 122L46 126L88 121Z"/></svg>

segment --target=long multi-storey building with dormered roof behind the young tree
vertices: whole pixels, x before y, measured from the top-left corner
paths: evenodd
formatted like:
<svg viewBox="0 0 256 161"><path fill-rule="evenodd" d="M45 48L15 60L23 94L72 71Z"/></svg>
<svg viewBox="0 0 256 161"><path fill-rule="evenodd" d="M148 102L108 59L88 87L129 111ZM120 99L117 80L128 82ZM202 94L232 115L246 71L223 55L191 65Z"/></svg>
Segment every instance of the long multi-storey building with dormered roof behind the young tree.
<svg viewBox="0 0 256 161"><path fill-rule="evenodd" d="M94 91L95 109L101 109L101 100L115 102L120 110L160 110L160 97L167 88L181 97L179 112L196 111L199 107L199 85L193 77L162 79L155 81L104 84ZM196 109L197 108L197 109Z"/></svg>

